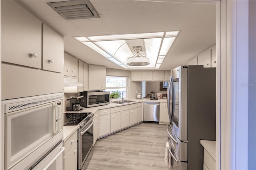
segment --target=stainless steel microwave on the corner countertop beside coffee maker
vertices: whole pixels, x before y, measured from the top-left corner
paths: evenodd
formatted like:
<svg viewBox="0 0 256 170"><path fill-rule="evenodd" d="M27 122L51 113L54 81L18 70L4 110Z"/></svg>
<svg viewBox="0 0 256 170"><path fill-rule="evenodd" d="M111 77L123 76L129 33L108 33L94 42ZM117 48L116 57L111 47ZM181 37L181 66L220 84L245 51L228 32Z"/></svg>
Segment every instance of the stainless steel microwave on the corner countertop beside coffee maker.
<svg viewBox="0 0 256 170"><path fill-rule="evenodd" d="M80 94L84 95L84 98L80 101L82 107L110 104L110 91L83 91Z"/></svg>

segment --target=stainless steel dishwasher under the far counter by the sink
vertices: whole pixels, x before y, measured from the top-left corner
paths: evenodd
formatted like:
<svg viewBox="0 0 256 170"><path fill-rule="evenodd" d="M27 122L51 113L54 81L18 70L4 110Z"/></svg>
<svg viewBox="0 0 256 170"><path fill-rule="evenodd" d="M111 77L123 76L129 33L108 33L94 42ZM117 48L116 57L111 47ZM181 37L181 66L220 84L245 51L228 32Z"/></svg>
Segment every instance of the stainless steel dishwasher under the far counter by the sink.
<svg viewBox="0 0 256 170"><path fill-rule="evenodd" d="M159 102L145 102L143 109L144 122L159 122Z"/></svg>

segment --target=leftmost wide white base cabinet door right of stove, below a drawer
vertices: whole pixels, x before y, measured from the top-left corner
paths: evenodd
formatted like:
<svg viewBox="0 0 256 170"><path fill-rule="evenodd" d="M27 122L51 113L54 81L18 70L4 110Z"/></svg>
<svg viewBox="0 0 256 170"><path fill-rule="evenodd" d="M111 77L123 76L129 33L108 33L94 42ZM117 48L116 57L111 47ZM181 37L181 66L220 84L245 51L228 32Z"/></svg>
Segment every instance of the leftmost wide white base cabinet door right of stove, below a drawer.
<svg viewBox="0 0 256 170"><path fill-rule="evenodd" d="M100 116L99 121L99 136L110 133L110 114Z"/></svg>

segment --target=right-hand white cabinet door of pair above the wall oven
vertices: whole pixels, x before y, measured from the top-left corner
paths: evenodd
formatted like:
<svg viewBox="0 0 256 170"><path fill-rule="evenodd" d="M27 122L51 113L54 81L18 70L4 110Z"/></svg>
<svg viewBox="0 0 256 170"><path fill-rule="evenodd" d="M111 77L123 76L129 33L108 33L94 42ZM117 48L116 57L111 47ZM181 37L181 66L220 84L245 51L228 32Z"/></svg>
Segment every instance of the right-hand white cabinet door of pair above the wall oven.
<svg viewBox="0 0 256 170"><path fill-rule="evenodd" d="M43 69L63 73L63 38L43 24Z"/></svg>

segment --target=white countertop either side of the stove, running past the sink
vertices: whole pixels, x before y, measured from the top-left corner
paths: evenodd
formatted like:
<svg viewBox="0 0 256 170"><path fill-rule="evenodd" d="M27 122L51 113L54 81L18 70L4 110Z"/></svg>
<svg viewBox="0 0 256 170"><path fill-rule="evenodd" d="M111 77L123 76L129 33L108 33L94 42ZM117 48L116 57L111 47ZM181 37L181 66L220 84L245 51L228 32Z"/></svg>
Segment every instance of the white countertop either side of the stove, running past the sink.
<svg viewBox="0 0 256 170"><path fill-rule="evenodd" d="M118 107L118 106L124 106L124 105L130 105L130 104L134 104L134 103L140 103L140 102L144 102L144 101L152 101L152 102L167 102L167 99L158 99L158 100L150 100L150 99L128 99L128 100L132 100L134 102L130 102L130 103L124 103L124 104L117 104L117 103L111 103L108 105L103 105L103 106L96 106L96 107L89 107L89 108L85 108L85 107L80 107L82 109L84 109L82 112L91 112L91 113L95 113L100 109L107 109L107 108L111 108L111 107ZM74 134L74 132L76 132L78 130L79 126L63 126L63 137L64 137L64 142L72 135Z"/></svg>

